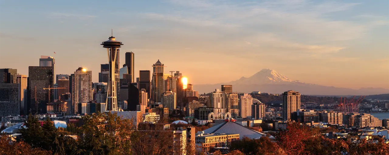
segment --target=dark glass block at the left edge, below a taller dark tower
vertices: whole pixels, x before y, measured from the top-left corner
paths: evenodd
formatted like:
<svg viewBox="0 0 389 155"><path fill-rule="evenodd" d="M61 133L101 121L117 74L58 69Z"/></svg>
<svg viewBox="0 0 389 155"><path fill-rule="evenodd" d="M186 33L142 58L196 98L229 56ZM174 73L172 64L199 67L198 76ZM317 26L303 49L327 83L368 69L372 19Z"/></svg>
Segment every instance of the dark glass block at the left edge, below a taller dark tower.
<svg viewBox="0 0 389 155"><path fill-rule="evenodd" d="M20 110L18 83L0 83L0 116L18 116Z"/></svg>

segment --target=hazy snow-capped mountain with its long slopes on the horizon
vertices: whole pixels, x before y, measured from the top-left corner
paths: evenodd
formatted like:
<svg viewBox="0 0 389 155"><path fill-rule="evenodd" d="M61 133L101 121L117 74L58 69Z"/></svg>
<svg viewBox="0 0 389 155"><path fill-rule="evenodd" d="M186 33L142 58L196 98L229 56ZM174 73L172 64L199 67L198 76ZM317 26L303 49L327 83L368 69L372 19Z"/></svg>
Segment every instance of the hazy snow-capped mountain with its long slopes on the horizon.
<svg viewBox="0 0 389 155"><path fill-rule="evenodd" d="M375 95L389 93L384 88L361 88L358 90L350 88L337 88L333 86L322 86L318 84L304 83L302 81L292 80L283 76L272 69L262 69L251 77L241 77L238 80L229 83L218 84L194 84L194 89L202 93L209 93L220 89L222 84L232 84L234 92L251 93L252 91L261 91L262 93L280 94L284 91L295 90L304 95Z"/></svg>

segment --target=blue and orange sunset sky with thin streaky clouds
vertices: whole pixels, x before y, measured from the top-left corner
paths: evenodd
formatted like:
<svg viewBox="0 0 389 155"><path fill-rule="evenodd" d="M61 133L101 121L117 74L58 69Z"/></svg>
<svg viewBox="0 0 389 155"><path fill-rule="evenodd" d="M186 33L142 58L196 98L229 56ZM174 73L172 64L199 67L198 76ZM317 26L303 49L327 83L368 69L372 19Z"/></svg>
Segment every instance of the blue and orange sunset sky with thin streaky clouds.
<svg viewBox="0 0 389 155"><path fill-rule="evenodd" d="M0 0L0 68L56 59L98 82L113 35L135 54L135 77L158 59L191 84L224 83L269 68L293 80L389 88L387 0ZM54 54L54 52L56 52ZM196 89L196 88L194 88Z"/></svg>

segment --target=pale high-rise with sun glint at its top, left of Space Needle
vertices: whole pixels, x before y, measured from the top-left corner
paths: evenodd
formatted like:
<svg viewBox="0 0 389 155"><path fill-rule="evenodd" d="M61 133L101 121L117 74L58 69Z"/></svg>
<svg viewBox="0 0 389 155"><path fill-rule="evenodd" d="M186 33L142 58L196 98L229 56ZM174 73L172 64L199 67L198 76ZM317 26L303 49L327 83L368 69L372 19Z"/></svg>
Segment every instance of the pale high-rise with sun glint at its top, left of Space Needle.
<svg viewBox="0 0 389 155"><path fill-rule="evenodd" d="M92 71L80 67L72 76L72 103L74 114L79 114L79 103L88 103L93 100Z"/></svg>

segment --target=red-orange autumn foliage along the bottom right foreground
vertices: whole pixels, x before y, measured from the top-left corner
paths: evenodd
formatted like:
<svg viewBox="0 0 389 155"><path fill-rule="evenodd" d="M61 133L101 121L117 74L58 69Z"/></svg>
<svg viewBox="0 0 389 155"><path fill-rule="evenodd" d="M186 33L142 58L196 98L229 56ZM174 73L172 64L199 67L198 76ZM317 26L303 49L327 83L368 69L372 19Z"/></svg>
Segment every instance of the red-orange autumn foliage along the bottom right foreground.
<svg viewBox="0 0 389 155"><path fill-rule="evenodd" d="M287 129L280 131L275 141L267 137L244 138L233 143L231 150L239 150L245 155L389 155L389 145L383 139L377 143L328 139L296 122L289 123Z"/></svg>

